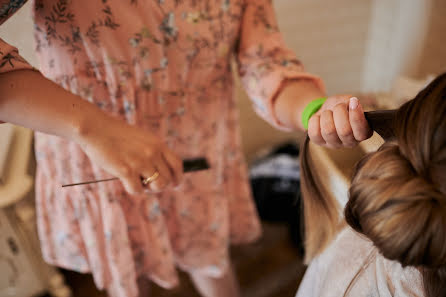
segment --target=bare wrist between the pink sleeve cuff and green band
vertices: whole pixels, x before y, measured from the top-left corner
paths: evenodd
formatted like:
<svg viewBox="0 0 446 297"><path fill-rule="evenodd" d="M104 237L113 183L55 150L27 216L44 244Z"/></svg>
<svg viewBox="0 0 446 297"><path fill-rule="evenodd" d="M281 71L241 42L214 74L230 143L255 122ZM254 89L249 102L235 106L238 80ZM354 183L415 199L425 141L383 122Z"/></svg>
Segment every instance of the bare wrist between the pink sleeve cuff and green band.
<svg viewBox="0 0 446 297"><path fill-rule="evenodd" d="M325 93L307 79L286 82L274 104L279 122L294 130L305 130L302 112L311 101L324 97Z"/></svg>

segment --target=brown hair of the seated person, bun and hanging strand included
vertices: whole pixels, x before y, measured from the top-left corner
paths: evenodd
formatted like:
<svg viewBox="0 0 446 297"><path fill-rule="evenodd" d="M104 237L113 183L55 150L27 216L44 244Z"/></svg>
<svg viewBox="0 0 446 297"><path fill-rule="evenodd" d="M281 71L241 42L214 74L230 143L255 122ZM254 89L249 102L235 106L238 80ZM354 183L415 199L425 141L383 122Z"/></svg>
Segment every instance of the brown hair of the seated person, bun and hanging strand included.
<svg viewBox="0 0 446 297"><path fill-rule="evenodd" d="M376 123L379 124L379 117ZM378 130L372 123L372 128ZM446 74L436 78L415 99L386 122L392 139L366 155L356 166L345 208L347 223L367 236L384 257L420 269L426 296L446 296ZM375 129L376 128L376 129ZM308 140L302 152L304 211L310 255L315 242L330 241L339 213L327 208L311 173ZM308 195L310 194L310 195ZM337 217L334 217L336 216ZM335 224L333 224L335 223ZM330 225L333 224L333 225ZM325 231L329 230L329 231ZM308 234L313 232L316 234ZM317 234L318 233L318 234ZM327 234L329 237L326 237ZM330 237L331 236L331 237ZM315 239L316 238L316 239ZM308 249L308 245L307 245Z"/></svg>

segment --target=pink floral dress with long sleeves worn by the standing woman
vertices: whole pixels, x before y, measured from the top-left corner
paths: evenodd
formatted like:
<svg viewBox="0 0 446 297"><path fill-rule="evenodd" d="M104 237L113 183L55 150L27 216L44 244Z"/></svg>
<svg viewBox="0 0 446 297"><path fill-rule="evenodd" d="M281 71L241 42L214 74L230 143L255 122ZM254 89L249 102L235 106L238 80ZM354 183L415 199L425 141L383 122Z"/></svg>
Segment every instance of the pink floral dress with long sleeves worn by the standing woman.
<svg viewBox="0 0 446 297"><path fill-rule="evenodd" d="M25 1L0 0L4 22ZM176 266L219 276L229 243L259 237L241 152L231 61L254 108L272 124L286 79L305 73L277 28L271 0L35 0L43 75L104 111L158 134L211 169L180 190L132 196L75 143L36 133L42 252L51 264L92 272L114 296L138 295L146 276L170 288ZM31 68L0 40L0 72ZM63 100L61 98L61 100Z"/></svg>

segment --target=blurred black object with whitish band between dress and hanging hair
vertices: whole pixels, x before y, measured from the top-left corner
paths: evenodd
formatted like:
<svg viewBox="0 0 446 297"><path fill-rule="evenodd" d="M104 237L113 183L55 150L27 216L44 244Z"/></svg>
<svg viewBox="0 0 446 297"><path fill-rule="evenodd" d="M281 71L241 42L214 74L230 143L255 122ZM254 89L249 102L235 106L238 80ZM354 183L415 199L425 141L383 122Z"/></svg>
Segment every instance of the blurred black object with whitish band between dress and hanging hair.
<svg viewBox="0 0 446 297"><path fill-rule="evenodd" d="M278 146L250 167L251 188L264 221L287 223L293 243L303 256L303 207L300 193L299 147Z"/></svg>

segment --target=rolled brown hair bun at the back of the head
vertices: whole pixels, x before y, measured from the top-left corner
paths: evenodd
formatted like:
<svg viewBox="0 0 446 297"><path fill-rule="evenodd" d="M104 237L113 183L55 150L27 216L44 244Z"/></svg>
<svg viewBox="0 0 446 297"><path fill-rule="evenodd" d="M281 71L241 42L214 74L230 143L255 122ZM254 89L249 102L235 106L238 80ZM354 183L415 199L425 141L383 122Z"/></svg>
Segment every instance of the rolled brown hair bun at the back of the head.
<svg viewBox="0 0 446 297"><path fill-rule="evenodd" d="M385 144L358 164L345 217L386 258L434 267L446 265L445 202L396 144Z"/></svg>

